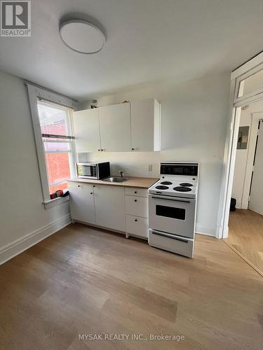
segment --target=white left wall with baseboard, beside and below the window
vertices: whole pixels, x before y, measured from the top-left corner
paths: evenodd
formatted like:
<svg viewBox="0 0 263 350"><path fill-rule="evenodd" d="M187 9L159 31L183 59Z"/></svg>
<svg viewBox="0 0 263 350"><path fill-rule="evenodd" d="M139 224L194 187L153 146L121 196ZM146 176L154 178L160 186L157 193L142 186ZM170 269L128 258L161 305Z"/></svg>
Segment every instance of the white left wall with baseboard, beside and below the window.
<svg viewBox="0 0 263 350"><path fill-rule="evenodd" d="M46 210L27 90L0 72L0 263L69 222L69 204ZM26 237L27 236L27 237Z"/></svg>

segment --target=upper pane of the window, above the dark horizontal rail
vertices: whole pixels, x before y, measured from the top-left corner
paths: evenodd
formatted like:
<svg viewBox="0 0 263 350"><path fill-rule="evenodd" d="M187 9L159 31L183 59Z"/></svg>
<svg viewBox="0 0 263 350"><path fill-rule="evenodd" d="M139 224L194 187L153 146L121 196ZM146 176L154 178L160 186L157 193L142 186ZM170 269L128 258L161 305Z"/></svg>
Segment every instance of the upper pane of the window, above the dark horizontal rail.
<svg viewBox="0 0 263 350"><path fill-rule="evenodd" d="M68 110L60 106L38 101L39 121L42 134L70 135Z"/></svg>

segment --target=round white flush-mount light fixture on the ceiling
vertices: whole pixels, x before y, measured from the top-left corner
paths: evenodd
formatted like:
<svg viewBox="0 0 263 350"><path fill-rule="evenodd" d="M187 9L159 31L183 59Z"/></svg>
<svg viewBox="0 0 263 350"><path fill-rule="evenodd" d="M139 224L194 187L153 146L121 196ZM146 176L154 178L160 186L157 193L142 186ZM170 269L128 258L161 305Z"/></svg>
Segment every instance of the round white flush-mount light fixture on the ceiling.
<svg viewBox="0 0 263 350"><path fill-rule="evenodd" d="M62 23L60 38L67 47L86 54L99 52L106 42L101 29L85 20L68 20Z"/></svg>

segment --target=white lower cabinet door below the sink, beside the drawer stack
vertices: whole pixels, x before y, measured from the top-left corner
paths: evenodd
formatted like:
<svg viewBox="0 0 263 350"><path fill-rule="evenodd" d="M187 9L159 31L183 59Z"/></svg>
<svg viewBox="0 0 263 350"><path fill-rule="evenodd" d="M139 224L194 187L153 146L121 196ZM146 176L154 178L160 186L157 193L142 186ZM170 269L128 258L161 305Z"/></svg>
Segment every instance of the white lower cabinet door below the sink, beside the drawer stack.
<svg viewBox="0 0 263 350"><path fill-rule="evenodd" d="M96 185L94 189L96 225L126 231L124 188Z"/></svg>

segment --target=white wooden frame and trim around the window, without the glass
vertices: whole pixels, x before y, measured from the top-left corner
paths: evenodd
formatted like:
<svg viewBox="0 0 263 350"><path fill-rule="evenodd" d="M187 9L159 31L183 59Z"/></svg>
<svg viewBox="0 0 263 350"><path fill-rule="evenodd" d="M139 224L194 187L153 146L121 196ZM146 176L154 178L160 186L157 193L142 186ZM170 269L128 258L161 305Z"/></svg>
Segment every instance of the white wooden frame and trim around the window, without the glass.
<svg viewBox="0 0 263 350"><path fill-rule="evenodd" d="M30 83L25 83L27 85L27 91L29 96L29 107L32 116L32 123L34 129L34 140L36 144L36 153L39 162L39 174L41 179L41 189L43 194L43 204L45 204L46 209L49 207L53 207L54 203L59 204L61 202L65 202L65 198L58 197L55 200L50 200L49 193L49 184L48 184L48 172L46 168L46 157L45 151L43 148L43 138L41 132L41 126L39 121L39 111L37 107L38 99L43 99L44 101L59 104L60 106L64 106L70 109L77 109L78 102L74 99L70 99L69 97L65 97L63 95L57 94L56 92L51 92L45 90L37 85L32 85ZM72 124L72 116L70 118L70 123ZM73 125L71 125L72 132L74 134ZM72 142L72 158L74 162L76 161L76 148L75 143ZM71 171L75 174L75 167L71 167ZM68 200L68 199L66 199Z"/></svg>

